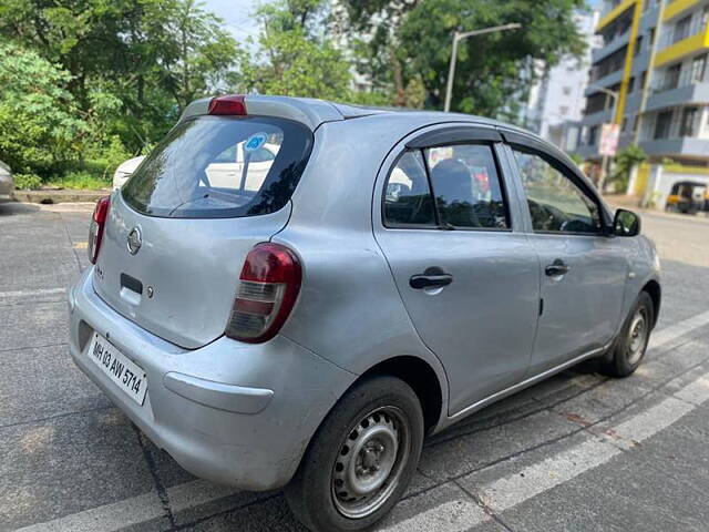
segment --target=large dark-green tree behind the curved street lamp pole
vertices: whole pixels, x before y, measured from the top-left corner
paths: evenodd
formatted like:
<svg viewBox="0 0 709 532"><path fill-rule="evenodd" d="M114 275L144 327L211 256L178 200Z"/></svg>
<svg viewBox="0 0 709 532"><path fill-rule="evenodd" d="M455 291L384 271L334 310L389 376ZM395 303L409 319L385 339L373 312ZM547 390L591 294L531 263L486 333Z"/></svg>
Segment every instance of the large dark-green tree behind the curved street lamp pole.
<svg viewBox="0 0 709 532"><path fill-rule="evenodd" d="M451 109L514 115L512 102L535 81L531 68L578 55L585 42L574 22L584 0L345 0L345 16L359 52L358 68L378 86L393 88L393 103L405 103L405 88L420 76L428 106L443 106L451 40L470 31L511 22L522 29L462 41ZM433 22L434 21L434 22ZM521 73L525 72L526 75Z"/></svg>

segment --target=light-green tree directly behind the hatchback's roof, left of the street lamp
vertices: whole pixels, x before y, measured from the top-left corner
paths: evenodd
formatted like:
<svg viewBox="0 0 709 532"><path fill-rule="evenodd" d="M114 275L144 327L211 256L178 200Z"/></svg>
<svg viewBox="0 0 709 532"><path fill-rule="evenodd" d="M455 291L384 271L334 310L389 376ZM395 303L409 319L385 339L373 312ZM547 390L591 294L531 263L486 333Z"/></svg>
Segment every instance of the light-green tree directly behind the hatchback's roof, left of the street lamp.
<svg viewBox="0 0 709 532"><path fill-rule="evenodd" d="M347 99L350 64L319 24L320 0L277 0L256 11L260 24L258 52L243 50L238 92ZM256 59L255 59L256 58Z"/></svg>

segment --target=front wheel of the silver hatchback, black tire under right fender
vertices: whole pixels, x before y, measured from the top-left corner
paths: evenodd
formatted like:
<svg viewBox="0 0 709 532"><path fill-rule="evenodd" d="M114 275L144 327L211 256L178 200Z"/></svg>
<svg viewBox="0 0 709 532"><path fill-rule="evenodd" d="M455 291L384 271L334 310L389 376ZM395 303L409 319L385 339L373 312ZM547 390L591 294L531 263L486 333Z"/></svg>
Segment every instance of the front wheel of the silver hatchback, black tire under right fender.
<svg viewBox="0 0 709 532"><path fill-rule="evenodd" d="M641 332L638 332L637 329L638 319L644 324ZM653 298L647 291L641 291L630 309L618 338L610 348L610 352L600 362L600 372L617 378L633 375L645 358L654 324L655 305Z"/></svg>

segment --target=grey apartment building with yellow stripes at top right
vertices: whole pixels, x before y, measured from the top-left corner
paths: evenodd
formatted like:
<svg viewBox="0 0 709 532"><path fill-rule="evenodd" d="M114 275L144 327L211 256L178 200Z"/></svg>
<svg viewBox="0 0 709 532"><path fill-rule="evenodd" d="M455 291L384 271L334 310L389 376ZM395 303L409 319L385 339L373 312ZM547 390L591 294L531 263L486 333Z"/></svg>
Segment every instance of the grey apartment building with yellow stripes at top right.
<svg viewBox="0 0 709 532"><path fill-rule="evenodd" d="M708 17L709 0L605 0L579 155L598 161L602 124L614 122L620 149L709 166Z"/></svg>

